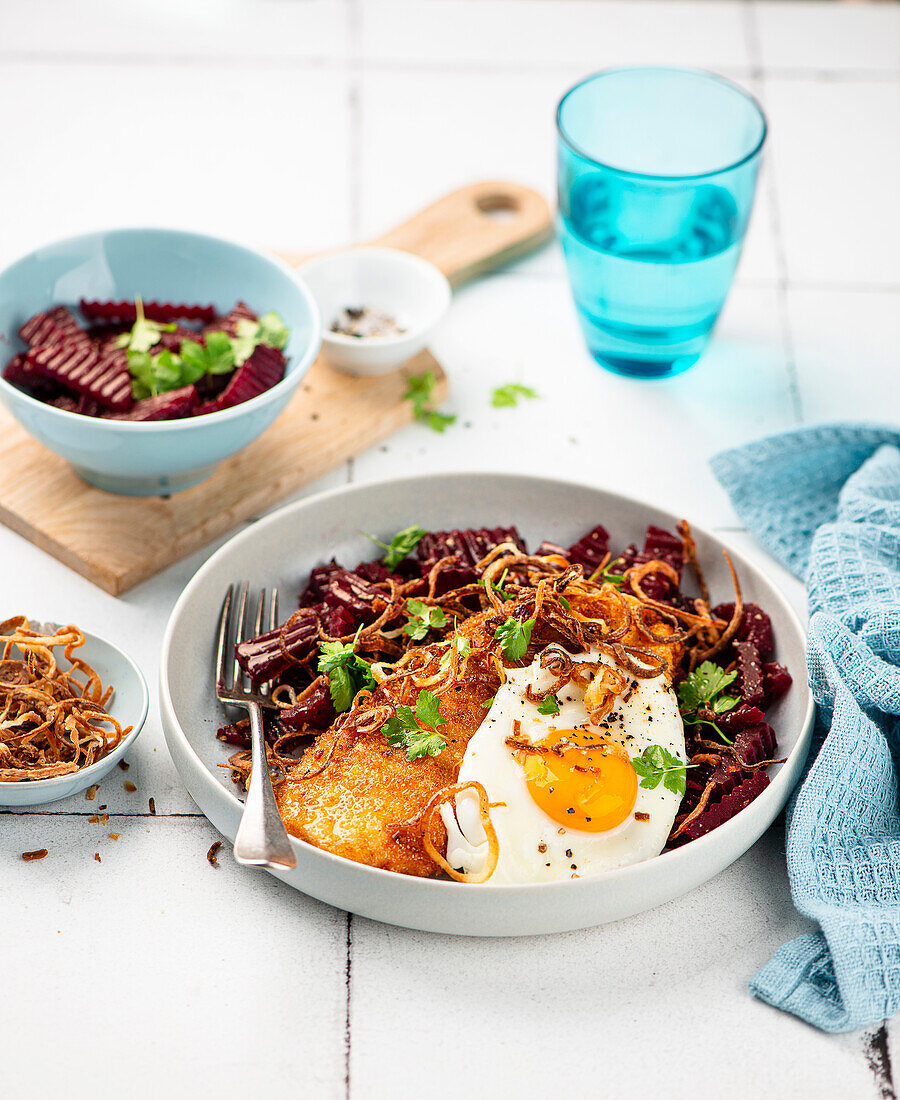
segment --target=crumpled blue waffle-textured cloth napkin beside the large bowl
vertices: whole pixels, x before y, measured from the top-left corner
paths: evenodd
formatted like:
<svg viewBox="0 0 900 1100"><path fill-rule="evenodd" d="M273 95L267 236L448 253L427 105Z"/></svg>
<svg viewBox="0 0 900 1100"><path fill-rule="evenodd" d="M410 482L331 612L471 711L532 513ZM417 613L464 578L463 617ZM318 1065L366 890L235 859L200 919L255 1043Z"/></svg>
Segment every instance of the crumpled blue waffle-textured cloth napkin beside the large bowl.
<svg viewBox="0 0 900 1100"><path fill-rule="evenodd" d="M806 575L819 711L788 807L788 873L817 932L757 997L828 1032L900 1010L900 430L826 425L717 454L749 530Z"/></svg>

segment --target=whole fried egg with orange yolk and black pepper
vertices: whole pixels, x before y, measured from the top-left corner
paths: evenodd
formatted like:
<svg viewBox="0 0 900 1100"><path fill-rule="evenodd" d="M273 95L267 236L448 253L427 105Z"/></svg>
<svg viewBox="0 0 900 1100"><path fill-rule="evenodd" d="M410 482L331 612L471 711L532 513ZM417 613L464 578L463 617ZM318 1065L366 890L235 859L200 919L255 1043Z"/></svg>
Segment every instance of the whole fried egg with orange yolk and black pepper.
<svg viewBox="0 0 900 1100"><path fill-rule="evenodd" d="M572 660L616 668L596 650ZM662 783L640 787L632 761L659 745L684 763L684 726L665 676L623 674L624 690L594 724L585 692L574 681L557 692L558 714L542 714L529 700L529 688L533 694L546 692L555 680L541 668L540 654L527 668L507 671L459 773L460 783L481 783L492 803L500 856L490 882L596 875L649 859L665 847L681 796ZM460 791L454 804L441 807L441 817L449 865L476 876L489 845L475 789Z"/></svg>

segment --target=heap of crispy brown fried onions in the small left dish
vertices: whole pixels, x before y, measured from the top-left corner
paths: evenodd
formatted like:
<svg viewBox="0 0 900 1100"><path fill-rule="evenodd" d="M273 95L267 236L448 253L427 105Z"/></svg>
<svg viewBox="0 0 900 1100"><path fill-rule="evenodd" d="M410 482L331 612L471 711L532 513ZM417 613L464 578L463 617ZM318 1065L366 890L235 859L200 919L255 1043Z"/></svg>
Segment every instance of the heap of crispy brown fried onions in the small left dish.
<svg viewBox="0 0 900 1100"><path fill-rule="evenodd" d="M75 654L84 644L77 626L40 634L24 615L0 623L0 782L80 771L131 733L106 712L112 686Z"/></svg>

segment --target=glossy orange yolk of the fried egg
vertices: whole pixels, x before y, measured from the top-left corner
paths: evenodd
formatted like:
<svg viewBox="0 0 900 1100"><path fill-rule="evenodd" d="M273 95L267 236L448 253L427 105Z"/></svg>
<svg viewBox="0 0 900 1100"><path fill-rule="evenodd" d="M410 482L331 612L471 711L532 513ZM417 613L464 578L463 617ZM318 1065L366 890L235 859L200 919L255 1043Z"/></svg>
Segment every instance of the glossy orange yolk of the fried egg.
<svg viewBox="0 0 900 1100"><path fill-rule="evenodd" d="M528 793L555 822L605 833L634 810L637 776L622 746L590 729L557 729L536 747L514 751Z"/></svg>

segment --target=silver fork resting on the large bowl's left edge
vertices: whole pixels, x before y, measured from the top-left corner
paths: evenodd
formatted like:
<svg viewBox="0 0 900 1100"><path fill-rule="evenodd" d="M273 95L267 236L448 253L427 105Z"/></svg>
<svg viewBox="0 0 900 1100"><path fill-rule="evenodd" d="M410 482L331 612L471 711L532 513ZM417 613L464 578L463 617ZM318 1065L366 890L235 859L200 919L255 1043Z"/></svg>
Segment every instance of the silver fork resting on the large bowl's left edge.
<svg viewBox="0 0 900 1100"><path fill-rule="evenodd" d="M238 835L234 837L234 858L239 864L253 867L273 867L284 869L297 866L297 857L290 847L287 831L282 815L275 805L275 794L272 790L272 778L265 757L265 737L263 735L263 707L275 706L270 695L271 685L264 684L254 691L253 684L244 676L238 659L231 676L231 686L226 682L226 653L229 651L229 640L246 641L248 637L256 637L263 630L263 614L266 603L266 591L260 591L256 603L256 619L253 634L246 632L248 609L246 581L238 590L237 614L232 616L234 603L234 585L229 584L222 603L219 618L219 645L216 651L216 694L219 702L227 706L243 706L250 714L250 747L252 770L250 788L246 792L244 812ZM278 590L272 590L268 606L268 627L274 630L278 623Z"/></svg>

